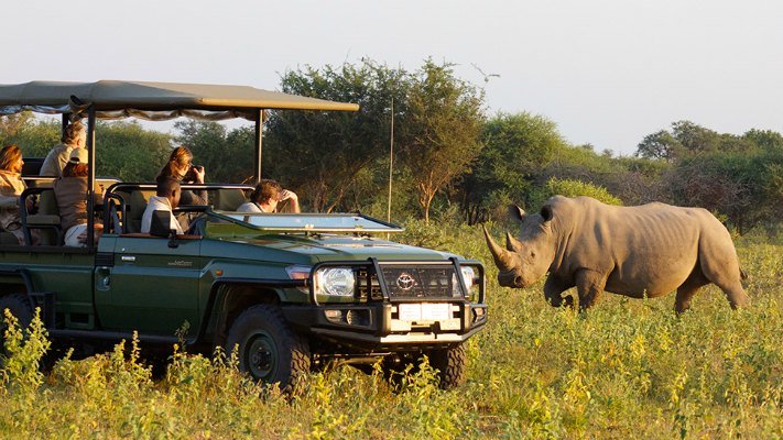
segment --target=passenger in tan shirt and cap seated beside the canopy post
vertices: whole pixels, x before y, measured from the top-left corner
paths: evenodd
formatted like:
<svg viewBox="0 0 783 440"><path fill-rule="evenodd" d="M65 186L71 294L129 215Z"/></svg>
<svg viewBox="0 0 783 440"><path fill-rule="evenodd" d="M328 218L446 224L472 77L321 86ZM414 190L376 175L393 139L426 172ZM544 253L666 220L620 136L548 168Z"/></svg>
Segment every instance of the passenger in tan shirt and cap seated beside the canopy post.
<svg viewBox="0 0 783 440"><path fill-rule="evenodd" d="M87 150L75 148L63 168L63 177L54 180L54 197L57 199L59 221L65 231L65 245L87 245L87 176L89 174ZM102 201L100 190L95 191L95 204ZM96 242L102 226L96 224Z"/></svg>

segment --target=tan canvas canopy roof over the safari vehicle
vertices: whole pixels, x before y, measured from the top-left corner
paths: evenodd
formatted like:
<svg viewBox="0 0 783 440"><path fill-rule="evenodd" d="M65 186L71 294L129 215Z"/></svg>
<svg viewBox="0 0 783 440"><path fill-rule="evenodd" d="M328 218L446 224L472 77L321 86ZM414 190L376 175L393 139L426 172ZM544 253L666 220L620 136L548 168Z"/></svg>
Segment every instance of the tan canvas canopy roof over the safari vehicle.
<svg viewBox="0 0 783 440"><path fill-rule="evenodd" d="M23 110L83 113L93 106L99 119L177 117L254 121L260 109L349 110L359 106L305 98L247 86L101 80L97 82L31 81L0 85L0 114Z"/></svg>

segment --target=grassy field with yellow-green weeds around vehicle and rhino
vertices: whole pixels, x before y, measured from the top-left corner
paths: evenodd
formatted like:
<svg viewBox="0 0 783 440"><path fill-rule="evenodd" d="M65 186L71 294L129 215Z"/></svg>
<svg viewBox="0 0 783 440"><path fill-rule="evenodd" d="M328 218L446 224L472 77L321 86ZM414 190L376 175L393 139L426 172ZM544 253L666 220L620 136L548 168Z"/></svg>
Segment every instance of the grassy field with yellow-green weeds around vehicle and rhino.
<svg viewBox="0 0 783 440"><path fill-rule="evenodd" d="M783 438L783 238L736 241L751 307L710 286L682 317L673 295L606 294L579 315L545 305L541 284L500 288L477 228L410 224L403 240L487 263L490 323L456 391L426 366L402 392L341 367L287 402L225 356L173 352L153 381L132 341L42 375L33 337L0 377L0 438Z"/></svg>

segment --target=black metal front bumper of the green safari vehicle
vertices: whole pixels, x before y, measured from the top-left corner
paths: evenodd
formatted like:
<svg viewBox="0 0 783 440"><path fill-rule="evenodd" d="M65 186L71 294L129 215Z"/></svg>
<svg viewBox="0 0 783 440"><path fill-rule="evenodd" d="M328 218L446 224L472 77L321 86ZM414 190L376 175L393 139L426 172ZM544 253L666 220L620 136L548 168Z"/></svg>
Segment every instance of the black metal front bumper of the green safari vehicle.
<svg viewBox="0 0 783 440"><path fill-rule="evenodd" d="M443 301L452 317L441 320L401 320L395 302L283 306L283 315L297 332L355 349L417 351L453 348L487 323L487 305Z"/></svg>

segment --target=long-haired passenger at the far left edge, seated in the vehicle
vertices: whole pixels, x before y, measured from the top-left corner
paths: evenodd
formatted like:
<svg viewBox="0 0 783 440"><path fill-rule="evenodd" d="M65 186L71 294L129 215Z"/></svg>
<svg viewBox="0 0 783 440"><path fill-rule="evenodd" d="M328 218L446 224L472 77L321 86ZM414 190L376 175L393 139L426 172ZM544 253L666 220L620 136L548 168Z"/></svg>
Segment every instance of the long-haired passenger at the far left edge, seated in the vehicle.
<svg viewBox="0 0 783 440"><path fill-rule="evenodd" d="M15 235L20 244L24 244L24 231L19 218L19 196L26 189L22 165L19 146L11 144L0 150L0 229ZM32 205L32 199L28 204Z"/></svg>

